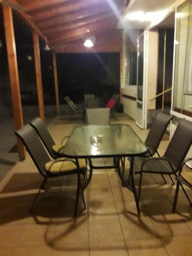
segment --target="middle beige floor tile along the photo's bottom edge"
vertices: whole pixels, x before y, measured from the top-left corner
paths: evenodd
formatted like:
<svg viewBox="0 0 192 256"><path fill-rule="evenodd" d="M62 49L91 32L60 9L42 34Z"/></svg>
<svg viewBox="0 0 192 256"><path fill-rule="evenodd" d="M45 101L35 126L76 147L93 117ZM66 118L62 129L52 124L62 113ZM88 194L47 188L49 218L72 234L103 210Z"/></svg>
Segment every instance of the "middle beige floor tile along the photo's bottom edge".
<svg viewBox="0 0 192 256"><path fill-rule="evenodd" d="M90 256L128 256L125 242L90 243Z"/></svg>

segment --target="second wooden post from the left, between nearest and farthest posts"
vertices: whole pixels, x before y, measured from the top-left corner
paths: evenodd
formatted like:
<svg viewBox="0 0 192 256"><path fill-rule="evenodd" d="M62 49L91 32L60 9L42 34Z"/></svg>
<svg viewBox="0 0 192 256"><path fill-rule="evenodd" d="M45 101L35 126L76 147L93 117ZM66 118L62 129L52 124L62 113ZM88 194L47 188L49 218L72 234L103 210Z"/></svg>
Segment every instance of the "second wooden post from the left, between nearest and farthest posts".
<svg viewBox="0 0 192 256"><path fill-rule="evenodd" d="M37 95L39 104L39 117L45 122L45 108L43 100L43 85L41 75L41 59L39 50L39 35L36 31L33 31L33 45L34 45L34 57L35 57L35 72L36 72L36 83L37 83Z"/></svg>

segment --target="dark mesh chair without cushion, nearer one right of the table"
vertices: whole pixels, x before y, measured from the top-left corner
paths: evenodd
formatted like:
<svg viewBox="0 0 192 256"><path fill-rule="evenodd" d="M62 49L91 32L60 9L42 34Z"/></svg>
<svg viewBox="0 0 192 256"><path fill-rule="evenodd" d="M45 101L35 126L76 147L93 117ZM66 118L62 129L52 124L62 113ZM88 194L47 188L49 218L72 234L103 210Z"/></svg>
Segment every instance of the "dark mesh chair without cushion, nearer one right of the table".
<svg viewBox="0 0 192 256"><path fill-rule="evenodd" d="M169 146L162 157L146 158L136 157L134 162L134 172L140 174L139 196L143 173L174 174L180 169L183 160L192 143L192 122L182 119L169 143Z"/></svg>

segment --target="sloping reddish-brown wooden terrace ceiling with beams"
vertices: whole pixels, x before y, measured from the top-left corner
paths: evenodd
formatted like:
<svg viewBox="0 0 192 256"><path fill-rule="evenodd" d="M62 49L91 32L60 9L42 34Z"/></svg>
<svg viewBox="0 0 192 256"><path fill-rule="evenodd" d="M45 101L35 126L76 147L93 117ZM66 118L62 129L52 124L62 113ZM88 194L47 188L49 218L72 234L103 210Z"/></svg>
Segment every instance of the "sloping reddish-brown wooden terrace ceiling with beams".
<svg viewBox="0 0 192 256"><path fill-rule="evenodd" d="M124 0L18 0L37 27L57 48L82 41L89 35L117 29L117 13ZM115 7L114 7L115 4ZM114 13L116 11L116 14Z"/></svg>

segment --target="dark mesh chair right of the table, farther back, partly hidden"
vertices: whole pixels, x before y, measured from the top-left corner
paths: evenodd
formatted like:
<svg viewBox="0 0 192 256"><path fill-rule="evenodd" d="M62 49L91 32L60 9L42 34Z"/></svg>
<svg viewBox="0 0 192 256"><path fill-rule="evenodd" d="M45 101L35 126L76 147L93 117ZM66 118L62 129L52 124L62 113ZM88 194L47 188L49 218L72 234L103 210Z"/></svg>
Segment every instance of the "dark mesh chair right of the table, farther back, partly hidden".
<svg viewBox="0 0 192 256"><path fill-rule="evenodd" d="M164 114L163 112L160 112L157 114L155 121L153 122L153 125L149 131L147 139L145 140L145 145L148 148L148 152L146 152L145 155L142 157L150 157L150 156L153 156L155 153L157 153L157 155L160 157L157 149L167 129L167 126L172 119L173 119L172 116ZM125 167L123 166L123 174L124 174L124 168ZM164 182L167 183L162 174L161 176ZM174 184L174 181L171 175L169 175L169 177L172 183Z"/></svg>

